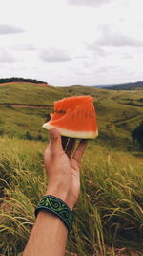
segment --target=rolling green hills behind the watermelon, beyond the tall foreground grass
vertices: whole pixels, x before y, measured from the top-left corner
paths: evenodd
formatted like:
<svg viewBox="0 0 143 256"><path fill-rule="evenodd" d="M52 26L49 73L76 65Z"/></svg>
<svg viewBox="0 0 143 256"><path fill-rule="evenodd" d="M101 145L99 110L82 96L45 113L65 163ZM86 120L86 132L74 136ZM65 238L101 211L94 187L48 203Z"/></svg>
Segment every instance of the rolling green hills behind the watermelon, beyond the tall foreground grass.
<svg viewBox="0 0 143 256"><path fill-rule="evenodd" d="M6 83L0 86L0 134L18 138L42 136L45 139L47 131L41 126L52 111L52 108L45 107L52 107L54 101L63 97L89 94L94 101L99 127L99 137L95 143L129 149L132 145L131 132L143 120L143 92L139 90L114 91L88 86L42 87L33 83Z"/></svg>

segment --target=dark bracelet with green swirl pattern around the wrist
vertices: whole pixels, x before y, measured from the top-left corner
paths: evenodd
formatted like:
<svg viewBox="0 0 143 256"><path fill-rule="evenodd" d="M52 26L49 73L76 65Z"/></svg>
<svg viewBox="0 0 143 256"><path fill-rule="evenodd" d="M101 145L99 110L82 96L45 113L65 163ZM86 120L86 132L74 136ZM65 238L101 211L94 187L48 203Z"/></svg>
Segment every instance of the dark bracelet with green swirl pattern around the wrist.
<svg viewBox="0 0 143 256"><path fill-rule="evenodd" d="M44 196L41 198L38 206L35 209L35 217L39 213L39 211L50 212L56 216L58 216L61 221L67 226L69 231L72 230L72 210L69 206L60 198L56 198L51 195Z"/></svg>

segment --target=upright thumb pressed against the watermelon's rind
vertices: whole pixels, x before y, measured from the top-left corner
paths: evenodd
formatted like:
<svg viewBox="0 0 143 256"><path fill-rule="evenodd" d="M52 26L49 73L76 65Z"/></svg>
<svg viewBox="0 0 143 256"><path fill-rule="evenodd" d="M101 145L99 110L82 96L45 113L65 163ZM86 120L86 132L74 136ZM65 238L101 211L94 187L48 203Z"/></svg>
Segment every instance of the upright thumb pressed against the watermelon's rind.
<svg viewBox="0 0 143 256"><path fill-rule="evenodd" d="M51 143L51 151L53 153L63 151L62 143L61 143L61 135L55 128L52 128L50 130L50 143Z"/></svg>

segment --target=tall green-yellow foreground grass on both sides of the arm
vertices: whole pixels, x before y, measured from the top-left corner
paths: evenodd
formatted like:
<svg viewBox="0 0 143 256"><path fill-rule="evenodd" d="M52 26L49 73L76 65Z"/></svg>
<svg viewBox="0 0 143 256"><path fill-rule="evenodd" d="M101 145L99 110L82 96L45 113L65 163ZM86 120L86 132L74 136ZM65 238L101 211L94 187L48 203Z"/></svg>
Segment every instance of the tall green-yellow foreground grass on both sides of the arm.
<svg viewBox="0 0 143 256"><path fill-rule="evenodd" d="M34 207L45 192L45 142L0 138L0 253L27 243ZM142 255L143 165L131 154L89 143L81 168L67 255Z"/></svg>

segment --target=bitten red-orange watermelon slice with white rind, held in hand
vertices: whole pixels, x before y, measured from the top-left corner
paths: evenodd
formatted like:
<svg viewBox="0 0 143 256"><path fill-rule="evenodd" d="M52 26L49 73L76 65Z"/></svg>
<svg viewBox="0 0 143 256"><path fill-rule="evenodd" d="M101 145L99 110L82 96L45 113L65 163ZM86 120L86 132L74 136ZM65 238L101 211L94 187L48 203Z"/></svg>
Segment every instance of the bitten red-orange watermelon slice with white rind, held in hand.
<svg viewBox="0 0 143 256"><path fill-rule="evenodd" d="M75 96L54 102L54 113L43 128L56 128L70 138L94 139L98 130L92 97Z"/></svg>

